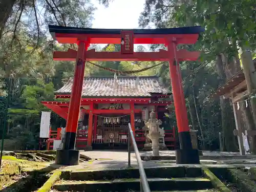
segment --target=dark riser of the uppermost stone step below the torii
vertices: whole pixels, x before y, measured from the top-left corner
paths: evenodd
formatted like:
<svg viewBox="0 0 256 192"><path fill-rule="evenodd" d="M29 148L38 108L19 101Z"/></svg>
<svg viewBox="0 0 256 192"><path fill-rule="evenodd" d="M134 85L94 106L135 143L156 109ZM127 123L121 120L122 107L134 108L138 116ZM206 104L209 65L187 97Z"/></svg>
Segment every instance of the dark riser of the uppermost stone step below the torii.
<svg viewBox="0 0 256 192"><path fill-rule="evenodd" d="M180 178L202 177L201 167L148 167L145 168L147 178ZM140 178L137 168L109 169L109 170L83 170L63 173L65 180L89 181L89 180L113 180L119 178Z"/></svg>

